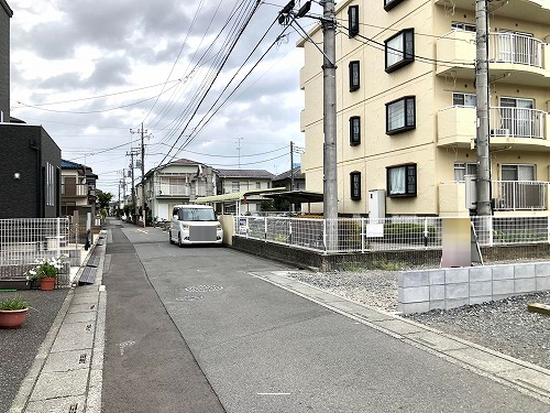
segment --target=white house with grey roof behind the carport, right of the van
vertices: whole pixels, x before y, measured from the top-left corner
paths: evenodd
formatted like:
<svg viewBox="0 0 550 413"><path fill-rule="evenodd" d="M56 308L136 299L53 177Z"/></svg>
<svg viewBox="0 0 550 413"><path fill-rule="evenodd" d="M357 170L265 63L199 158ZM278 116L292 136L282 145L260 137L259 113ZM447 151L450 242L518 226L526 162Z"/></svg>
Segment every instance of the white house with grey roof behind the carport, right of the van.
<svg viewBox="0 0 550 413"><path fill-rule="evenodd" d="M270 189L273 174L265 170L217 170L218 195L256 189ZM254 213L261 210L264 198L262 195L249 195L242 199L241 211ZM237 206L224 206L226 214L237 213Z"/></svg>

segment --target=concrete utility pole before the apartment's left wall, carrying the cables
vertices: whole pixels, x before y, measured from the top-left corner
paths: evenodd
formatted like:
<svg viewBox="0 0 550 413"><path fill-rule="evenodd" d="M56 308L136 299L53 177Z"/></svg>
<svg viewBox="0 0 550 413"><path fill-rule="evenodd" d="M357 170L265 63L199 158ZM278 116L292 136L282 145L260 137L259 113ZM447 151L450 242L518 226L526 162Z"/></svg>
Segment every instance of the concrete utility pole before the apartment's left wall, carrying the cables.
<svg viewBox="0 0 550 413"><path fill-rule="evenodd" d="M323 2L323 216L327 224L327 250L338 248L337 181L337 53L334 1Z"/></svg>

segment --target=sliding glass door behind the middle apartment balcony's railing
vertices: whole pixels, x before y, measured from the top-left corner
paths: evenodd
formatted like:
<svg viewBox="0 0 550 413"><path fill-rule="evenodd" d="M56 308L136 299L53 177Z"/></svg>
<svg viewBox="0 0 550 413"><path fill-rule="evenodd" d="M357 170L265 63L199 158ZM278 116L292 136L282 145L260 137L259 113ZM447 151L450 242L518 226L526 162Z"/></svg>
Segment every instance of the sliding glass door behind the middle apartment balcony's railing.
<svg viewBox="0 0 550 413"><path fill-rule="evenodd" d="M535 135L535 100L501 98L502 127L512 137L530 138Z"/></svg>

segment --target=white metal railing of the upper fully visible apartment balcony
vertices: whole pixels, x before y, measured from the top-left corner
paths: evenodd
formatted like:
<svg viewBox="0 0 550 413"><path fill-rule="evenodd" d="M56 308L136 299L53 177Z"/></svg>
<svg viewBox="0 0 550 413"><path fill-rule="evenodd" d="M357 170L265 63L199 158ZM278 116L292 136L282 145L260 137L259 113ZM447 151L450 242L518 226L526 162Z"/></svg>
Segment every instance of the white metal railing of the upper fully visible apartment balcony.
<svg viewBox="0 0 550 413"><path fill-rule="evenodd" d="M491 33L490 59L542 67L542 42L516 33Z"/></svg>

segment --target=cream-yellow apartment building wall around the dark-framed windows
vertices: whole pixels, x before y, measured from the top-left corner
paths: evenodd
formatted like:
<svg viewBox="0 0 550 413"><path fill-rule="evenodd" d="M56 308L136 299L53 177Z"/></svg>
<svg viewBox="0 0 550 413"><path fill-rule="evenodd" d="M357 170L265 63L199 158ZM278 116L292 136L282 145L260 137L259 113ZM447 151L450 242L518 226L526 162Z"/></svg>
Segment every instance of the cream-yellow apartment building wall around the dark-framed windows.
<svg viewBox="0 0 550 413"><path fill-rule="evenodd" d="M476 162L475 149L470 143L475 138L475 108L473 113L462 111L462 118L442 109L453 105L452 94L475 94L473 84L475 54L468 55L470 65L436 75L436 69L447 70L454 63L442 62L441 55L455 58L454 48L472 48L475 33L451 32L452 22L475 24L471 10L446 9L441 1L403 1L385 11L383 1L343 1L337 6L337 20L343 33L337 35L337 149L338 149L338 210L339 214L369 214L367 194L371 189L386 189L386 167L405 163L417 164L417 196L386 197L388 215L461 215L468 214L463 194L447 185L454 182L454 162ZM359 4L360 35L348 36L348 8ZM547 11L550 15L550 8ZM550 21L550 20L549 20ZM375 23L374 23L375 22ZM513 17L491 14L491 32L514 30L532 33L543 40L550 33L550 24L518 20ZM405 29L414 29L415 61L393 73L385 72L384 42ZM316 43L322 42L320 26L310 32ZM464 37L464 39L462 39ZM369 40L369 41L367 41ZM548 39L547 39L548 40ZM310 42L298 44L304 48L305 67L300 70L305 109L301 130L305 132L306 152L301 169L306 174L307 189L322 191L322 72L321 54ZM453 48L454 47L454 48ZM543 52L547 50L543 47ZM475 45L473 47L475 52ZM547 53L543 53L546 57ZM550 53L548 53L550 55ZM460 57L460 56L459 56ZM439 59L439 62L438 62ZM349 64L360 62L360 88L350 91ZM459 58L460 61L460 58ZM460 61L462 62L462 61ZM441 65L441 67L439 67ZM550 101L550 65L546 69L521 68L519 65L498 64L491 81L491 106L499 106L502 97L531 98L535 108L547 112ZM492 66L492 67L493 67ZM495 68L495 70L496 70ZM512 70L512 76L506 74ZM522 70L531 72L526 77ZM439 72L438 72L439 73ZM498 76L497 76L498 75ZM537 77L538 76L538 77ZM541 87L542 85L542 87ZM544 86L546 85L546 86ZM386 134L386 104L405 96L416 98L416 128L410 131ZM466 115L464 115L466 113ZM361 143L350 144L350 118L361 118ZM462 123L457 123L459 119ZM469 123L470 122L470 123ZM459 128L460 127L460 128ZM461 142L444 141L443 132L455 129L464 132ZM548 122L547 137L550 133ZM457 133L451 140L457 140ZM492 177L498 180L502 163L537 164L537 180L548 181L550 140L495 138L492 140ZM361 199L351 199L350 173L361 173ZM447 197L458 198L450 202ZM319 208L319 207L318 207ZM451 211L450 209L454 209Z"/></svg>

